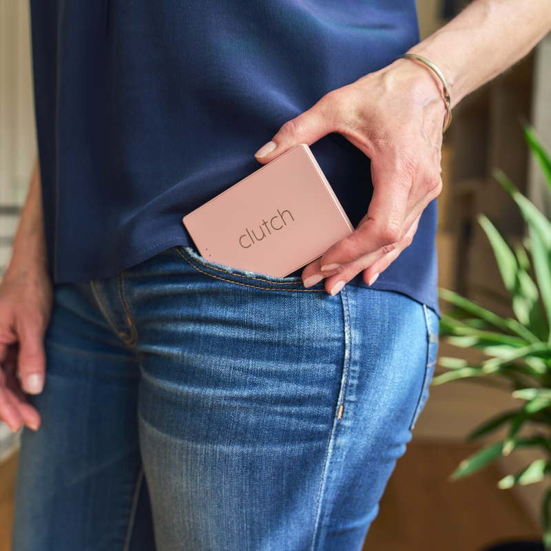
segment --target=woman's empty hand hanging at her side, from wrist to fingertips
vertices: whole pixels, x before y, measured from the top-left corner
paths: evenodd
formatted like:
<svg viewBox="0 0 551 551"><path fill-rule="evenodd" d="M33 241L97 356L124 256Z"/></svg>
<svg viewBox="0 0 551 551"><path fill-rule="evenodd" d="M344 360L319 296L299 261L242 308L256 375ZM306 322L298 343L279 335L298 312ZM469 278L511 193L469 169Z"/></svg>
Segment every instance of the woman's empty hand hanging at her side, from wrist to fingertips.
<svg viewBox="0 0 551 551"><path fill-rule="evenodd" d="M52 311L48 273L8 272L0 283L0 419L13 432L33 430L41 419L23 391L42 391L45 374L44 334Z"/></svg>

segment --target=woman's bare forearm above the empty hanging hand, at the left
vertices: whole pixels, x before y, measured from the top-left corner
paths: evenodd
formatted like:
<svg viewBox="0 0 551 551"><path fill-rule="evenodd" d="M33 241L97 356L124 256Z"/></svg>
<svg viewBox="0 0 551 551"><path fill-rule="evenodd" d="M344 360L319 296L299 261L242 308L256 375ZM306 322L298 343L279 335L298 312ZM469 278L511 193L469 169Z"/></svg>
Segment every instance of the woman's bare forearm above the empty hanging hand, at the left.
<svg viewBox="0 0 551 551"><path fill-rule="evenodd" d="M6 275L48 271L39 163L35 163L29 191L14 238L12 258Z"/></svg>

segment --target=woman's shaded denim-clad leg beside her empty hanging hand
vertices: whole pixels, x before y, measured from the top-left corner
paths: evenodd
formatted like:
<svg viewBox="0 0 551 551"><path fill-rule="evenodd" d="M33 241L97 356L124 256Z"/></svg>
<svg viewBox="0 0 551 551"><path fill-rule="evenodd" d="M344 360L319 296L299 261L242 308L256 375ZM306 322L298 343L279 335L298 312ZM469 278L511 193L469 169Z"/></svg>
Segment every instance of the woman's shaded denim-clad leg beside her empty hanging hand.
<svg viewBox="0 0 551 551"><path fill-rule="evenodd" d="M45 387L31 397L42 425L23 430L12 550L151 551L138 356L90 284L56 289L45 351Z"/></svg>

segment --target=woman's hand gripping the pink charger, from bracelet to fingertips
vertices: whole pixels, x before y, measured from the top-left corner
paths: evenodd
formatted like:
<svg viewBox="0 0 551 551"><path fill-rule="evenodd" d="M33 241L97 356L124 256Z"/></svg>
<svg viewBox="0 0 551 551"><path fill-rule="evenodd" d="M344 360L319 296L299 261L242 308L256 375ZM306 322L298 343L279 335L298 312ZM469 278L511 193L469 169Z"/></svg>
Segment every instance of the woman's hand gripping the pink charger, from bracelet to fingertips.
<svg viewBox="0 0 551 551"><path fill-rule="evenodd" d="M366 216L350 237L304 268L306 287L326 278L326 291L335 295L361 271L371 285L410 245L423 210L441 191L445 114L437 76L400 59L330 92L257 152L260 163L269 163L299 143L336 132L371 159L373 198Z"/></svg>

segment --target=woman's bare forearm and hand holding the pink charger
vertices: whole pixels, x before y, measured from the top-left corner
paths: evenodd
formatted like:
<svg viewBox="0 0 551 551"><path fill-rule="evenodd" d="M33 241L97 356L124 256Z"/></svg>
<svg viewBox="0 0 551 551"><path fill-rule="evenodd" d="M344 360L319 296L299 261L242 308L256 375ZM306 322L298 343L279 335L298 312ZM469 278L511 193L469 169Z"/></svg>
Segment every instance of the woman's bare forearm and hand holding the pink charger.
<svg viewBox="0 0 551 551"><path fill-rule="evenodd" d="M444 74L452 107L526 56L551 29L550 0L475 0L408 53ZM458 54L459 52L459 54ZM299 143L336 132L371 159L373 198L355 232L302 272L335 295L360 272L373 284L410 245L426 205L441 191L443 86L426 65L400 59L330 92L283 125L256 154L266 164Z"/></svg>

